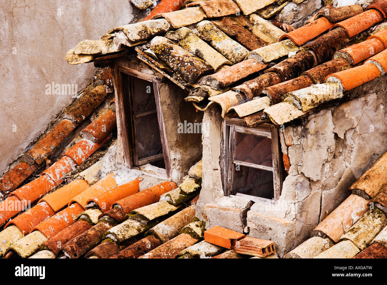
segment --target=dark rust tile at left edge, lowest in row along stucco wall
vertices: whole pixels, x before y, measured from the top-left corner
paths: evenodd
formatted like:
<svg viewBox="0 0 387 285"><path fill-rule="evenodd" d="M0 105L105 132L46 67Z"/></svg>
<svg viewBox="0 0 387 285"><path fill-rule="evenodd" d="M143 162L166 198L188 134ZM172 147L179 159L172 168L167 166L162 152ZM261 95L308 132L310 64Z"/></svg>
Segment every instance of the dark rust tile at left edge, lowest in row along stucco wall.
<svg viewBox="0 0 387 285"><path fill-rule="evenodd" d="M26 162L20 162L0 178L0 192L14 191L37 167Z"/></svg>

